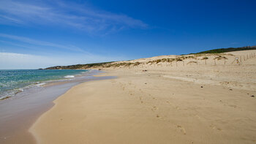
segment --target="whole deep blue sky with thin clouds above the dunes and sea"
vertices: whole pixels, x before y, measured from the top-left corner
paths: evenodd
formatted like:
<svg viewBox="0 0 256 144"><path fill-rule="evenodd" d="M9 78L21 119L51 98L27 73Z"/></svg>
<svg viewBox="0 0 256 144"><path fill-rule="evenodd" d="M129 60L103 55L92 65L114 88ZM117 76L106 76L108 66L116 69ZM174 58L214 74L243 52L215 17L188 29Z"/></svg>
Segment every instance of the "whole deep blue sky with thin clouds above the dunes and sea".
<svg viewBox="0 0 256 144"><path fill-rule="evenodd" d="M255 0L1 0L0 69L256 45Z"/></svg>

